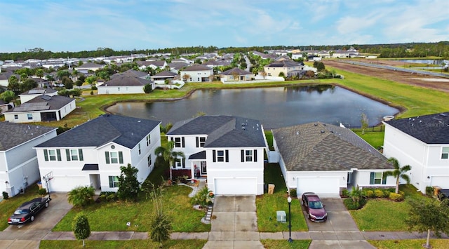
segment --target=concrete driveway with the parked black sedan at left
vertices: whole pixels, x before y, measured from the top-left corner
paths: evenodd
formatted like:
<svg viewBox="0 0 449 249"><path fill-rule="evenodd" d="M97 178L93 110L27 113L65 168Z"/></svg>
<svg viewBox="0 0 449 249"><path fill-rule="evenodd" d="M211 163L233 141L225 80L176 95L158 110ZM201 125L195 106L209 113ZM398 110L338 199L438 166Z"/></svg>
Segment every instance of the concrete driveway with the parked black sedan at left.
<svg viewBox="0 0 449 249"><path fill-rule="evenodd" d="M0 231L0 248L39 248L39 241L55 227L72 205L67 201L67 193L52 193L48 208L36 215L34 222L20 226L9 226Z"/></svg>

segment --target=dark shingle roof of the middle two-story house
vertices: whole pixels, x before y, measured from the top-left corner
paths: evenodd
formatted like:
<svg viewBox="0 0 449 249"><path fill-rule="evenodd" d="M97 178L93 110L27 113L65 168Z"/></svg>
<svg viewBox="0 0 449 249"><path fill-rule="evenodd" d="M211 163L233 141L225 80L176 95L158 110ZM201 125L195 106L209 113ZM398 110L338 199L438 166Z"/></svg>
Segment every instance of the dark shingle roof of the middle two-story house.
<svg viewBox="0 0 449 249"><path fill-rule="evenodd" d="M267 146L260 122L239 116L199 116L179 121L167 135L208 135L205 148Z"/></svg>

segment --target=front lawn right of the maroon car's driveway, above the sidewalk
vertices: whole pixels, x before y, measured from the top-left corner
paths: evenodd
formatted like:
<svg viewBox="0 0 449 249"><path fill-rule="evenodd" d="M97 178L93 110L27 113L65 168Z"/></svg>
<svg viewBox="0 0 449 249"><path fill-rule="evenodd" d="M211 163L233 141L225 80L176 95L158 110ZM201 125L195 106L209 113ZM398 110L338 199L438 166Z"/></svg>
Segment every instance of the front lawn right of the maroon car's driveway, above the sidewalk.
<svg viewBox="0 0 449 249"><path fill-rule="evenodd" d="M410 210L408 200L430 200L416 191L413 186L401 185L406 201L394 202L388 199L369 199L360 210L349 210L361 231L407 231L406 218Z"/></svg>

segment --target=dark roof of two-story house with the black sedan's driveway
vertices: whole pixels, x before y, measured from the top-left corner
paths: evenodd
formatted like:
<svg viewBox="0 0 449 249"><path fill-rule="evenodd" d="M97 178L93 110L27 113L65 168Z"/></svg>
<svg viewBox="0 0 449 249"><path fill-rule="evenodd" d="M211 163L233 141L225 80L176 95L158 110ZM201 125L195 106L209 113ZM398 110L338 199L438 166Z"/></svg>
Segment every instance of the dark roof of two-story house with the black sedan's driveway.
<svg viewBox="0 0 449 249"><path fill-rule="evenodd" d="M149 119L104 114L36 147L100 147L115 142L132 149L154 128L159 127L159 123Z"/></svg>

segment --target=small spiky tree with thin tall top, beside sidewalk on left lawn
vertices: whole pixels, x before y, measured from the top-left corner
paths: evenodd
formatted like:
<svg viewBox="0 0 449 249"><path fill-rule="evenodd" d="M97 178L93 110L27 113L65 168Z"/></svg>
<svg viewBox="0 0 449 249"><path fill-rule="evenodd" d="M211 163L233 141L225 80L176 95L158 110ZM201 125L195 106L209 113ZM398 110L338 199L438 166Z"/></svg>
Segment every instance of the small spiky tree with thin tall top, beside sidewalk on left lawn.
<svg viewBox="0 0 449 249"><path fill-rule="evenodd" d="M149 231L149 237L152 241L159 242L159 247L162 248L163 241L167 241L170 238L172 230L170 217L163 213L162 185L158 188L155 188L153 185L152 199L155 214L150 224L151 230Z"/></svg>

